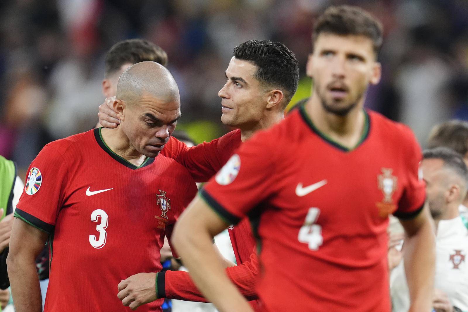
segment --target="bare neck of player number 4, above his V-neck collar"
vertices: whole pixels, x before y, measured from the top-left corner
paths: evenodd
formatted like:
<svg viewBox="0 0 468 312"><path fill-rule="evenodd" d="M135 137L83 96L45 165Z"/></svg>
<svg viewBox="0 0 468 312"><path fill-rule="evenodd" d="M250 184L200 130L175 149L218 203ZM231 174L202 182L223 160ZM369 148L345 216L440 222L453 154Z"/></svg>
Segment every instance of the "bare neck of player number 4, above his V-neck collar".
<svg viewBox="0 0 468 312"><path fill-rule="evenodd" d="M314 93L306 104L307 114L314 126L326 137L340 145L348 148L354 148L358 145L366 127L366 116L362 109L364 100L345 116L338 116L326 111L320 101Z"/></svg>

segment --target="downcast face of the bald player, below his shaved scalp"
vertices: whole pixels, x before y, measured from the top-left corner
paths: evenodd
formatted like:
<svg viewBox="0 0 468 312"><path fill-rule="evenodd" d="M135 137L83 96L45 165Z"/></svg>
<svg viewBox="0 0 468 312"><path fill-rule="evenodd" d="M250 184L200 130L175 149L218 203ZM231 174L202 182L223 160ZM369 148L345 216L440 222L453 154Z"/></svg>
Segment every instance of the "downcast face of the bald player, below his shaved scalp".
<svg viewBox="0 0 468 312"><path fill-rule="evenodd" d="M147 157L156 157L176 129L180 118L180 100L164 101L143 94L123 111L121 127L130 144Z"/></svg>

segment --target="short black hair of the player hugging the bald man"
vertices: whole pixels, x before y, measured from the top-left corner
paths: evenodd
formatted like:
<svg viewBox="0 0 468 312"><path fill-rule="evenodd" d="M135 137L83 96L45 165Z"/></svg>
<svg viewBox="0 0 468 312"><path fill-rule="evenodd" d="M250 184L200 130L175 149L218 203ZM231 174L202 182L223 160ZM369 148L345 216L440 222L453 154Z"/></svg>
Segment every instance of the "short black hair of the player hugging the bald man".
<svg viewBox="0 0 468 312"><path fill-rule="evenodd" d="M285 108L299 84L299 65L294 53L279 42L249 40L236 46L233 54L257 66L255 78L261 83L283 91Z"/></svg>

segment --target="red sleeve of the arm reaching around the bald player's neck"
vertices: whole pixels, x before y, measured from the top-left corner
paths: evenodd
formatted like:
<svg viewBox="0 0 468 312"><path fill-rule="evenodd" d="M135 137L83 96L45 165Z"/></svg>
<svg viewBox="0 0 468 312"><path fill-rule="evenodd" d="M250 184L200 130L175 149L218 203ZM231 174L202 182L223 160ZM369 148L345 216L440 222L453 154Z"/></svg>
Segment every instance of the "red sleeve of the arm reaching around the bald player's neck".
<svg viewBox="0 0 468 312"><path fill-rule="evenodd" d="M162 153L187 168L196 182L206 182L219 171L226 158L240 144L240 135L236 136L232 132L192 147L171 138Z"/></svg>

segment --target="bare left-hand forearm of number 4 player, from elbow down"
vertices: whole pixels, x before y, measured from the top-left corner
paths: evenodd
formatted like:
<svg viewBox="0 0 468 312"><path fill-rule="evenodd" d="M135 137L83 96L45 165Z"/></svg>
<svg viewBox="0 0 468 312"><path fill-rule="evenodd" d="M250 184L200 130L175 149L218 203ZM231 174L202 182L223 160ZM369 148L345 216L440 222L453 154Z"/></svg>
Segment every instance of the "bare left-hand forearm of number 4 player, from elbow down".
<svg viewBox="0 0 468 312"><path fill-rule="evenodd" d="M220 312L252 311L244 297L227 278L208 232L193 227L186 231L191 235L176 235L174 244L202 294L216 305Z"/></svg>

